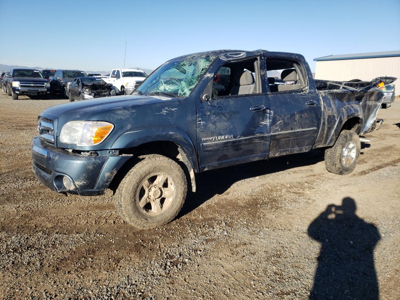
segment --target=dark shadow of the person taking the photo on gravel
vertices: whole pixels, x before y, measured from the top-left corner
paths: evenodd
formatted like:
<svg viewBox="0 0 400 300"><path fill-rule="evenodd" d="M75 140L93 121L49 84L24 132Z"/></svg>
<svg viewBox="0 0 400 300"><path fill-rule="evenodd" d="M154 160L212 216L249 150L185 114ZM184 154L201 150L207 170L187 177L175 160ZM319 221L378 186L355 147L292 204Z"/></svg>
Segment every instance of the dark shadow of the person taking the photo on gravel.
<svg viewBox="0 0 400 300"><path fill-rule="evenodd" d="M355 212L356 202L346 197L342 206L328 205L308 227L308 235L321 243L310 300L379 299L374 248L380 234Z"/></svg>

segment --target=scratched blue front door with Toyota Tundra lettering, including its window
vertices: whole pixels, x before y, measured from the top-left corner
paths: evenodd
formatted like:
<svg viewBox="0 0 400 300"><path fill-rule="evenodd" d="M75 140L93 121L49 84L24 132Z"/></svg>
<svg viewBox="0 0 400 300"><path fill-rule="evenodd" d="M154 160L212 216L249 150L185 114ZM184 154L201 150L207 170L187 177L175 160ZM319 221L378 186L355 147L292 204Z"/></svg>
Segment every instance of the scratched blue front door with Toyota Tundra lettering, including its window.
<svg viewBox="0 0 400 300"><path fill-rule="evenodd" d="M201 171L268 157L270 111L268 97L262 93L266 88L259 62L259 57L253 57L225 63L199 95ZM250 76L254 78L252 84Z"/></svg>

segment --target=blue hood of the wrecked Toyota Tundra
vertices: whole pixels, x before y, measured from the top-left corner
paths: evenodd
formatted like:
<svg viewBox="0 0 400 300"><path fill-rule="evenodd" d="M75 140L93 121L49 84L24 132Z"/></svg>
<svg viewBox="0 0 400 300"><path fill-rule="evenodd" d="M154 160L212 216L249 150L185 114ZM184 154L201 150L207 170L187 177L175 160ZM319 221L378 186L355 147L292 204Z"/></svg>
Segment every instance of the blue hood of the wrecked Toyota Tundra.
<svg viewBox="0 0 400 300"><path fill-rule="evenodd" d="M156 104L176 100L168 96L114 96L70 102L47 108L41 116L58 119L58 128L73 120L97 120L116 123L128 118L139 106L158 106ZM149 108L147 108L149 109Z"/></svg>

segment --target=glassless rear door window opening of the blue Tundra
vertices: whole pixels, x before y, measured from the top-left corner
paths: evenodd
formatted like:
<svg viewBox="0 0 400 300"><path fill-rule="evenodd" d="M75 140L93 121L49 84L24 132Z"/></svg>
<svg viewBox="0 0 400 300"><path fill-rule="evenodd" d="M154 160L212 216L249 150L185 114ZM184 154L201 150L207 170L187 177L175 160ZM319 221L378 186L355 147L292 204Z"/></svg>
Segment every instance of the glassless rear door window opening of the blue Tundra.
<svg viewBox="0 0 400 300"><path fill-rule="evenodd" d="M268 84L271 93L302 92L308 80L302 64L287 58L266 58Z"/></svg>

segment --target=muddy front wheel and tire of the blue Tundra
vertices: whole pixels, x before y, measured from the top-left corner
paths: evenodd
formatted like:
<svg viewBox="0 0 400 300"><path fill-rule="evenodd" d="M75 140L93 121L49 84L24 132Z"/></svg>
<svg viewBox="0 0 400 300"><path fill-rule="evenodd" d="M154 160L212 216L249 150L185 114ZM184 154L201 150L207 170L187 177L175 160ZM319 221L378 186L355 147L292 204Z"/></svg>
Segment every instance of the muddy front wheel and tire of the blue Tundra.
<svg viewBox="0 0 400 300"><path fill-rule="evenodd" d="M156 228L170 222L181 210L187 182L182 168L166 156L139 157L114 195L118 214L140 229Z"/></svg>

